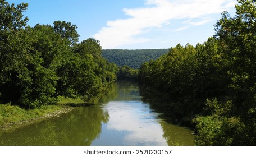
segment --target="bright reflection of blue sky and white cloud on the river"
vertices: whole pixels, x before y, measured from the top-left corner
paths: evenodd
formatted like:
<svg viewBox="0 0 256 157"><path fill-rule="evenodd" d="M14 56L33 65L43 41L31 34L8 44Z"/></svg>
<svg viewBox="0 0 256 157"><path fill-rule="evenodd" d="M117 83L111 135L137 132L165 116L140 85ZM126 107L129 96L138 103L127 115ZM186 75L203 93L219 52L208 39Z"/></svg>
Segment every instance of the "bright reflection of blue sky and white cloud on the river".
<svg viewBox="0 0 256 157"><path fill-rule="evenodd" d="M93 145L104 145L101 142L103 139L112 139L108 145L167 145L156 113L150 112L147 104L141 101L112 101L104 109L109 112L109 121Z"/></svg>

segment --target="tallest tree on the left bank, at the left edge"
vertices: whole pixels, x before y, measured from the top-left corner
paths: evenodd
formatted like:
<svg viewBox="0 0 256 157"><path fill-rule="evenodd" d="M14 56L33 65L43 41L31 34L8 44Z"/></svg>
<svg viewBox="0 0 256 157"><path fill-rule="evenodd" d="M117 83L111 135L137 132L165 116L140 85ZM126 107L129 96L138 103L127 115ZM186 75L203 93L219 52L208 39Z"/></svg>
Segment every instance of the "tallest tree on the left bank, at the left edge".
<svg viewBox="0 0 256 157"><path fill-rule="evenodd" d="M42 66L43 60L33 47L30 27L25 28L28 18L22 15L27 6L1 1L0 100L35 108L56 101L57 77Z"/></svg>

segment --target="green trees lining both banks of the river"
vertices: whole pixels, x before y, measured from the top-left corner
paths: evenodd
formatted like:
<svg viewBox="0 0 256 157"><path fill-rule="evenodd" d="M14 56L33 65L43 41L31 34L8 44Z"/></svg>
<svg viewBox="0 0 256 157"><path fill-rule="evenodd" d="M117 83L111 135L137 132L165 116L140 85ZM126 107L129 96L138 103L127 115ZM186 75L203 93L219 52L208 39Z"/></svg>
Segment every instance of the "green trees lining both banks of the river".
<svg viewBox="0 0 256 157"><path fill-rule="evenodd" d="M0 2L0 104L35 109L59 96L90 101L106 95L117 75L139 77L194 125L197 145L256 145L254 0L239 0L234 17L223 12L205 43L178 44L139 70L108 62L99 40L79 43L70 22L27 26L28 4Z"/></svg>

